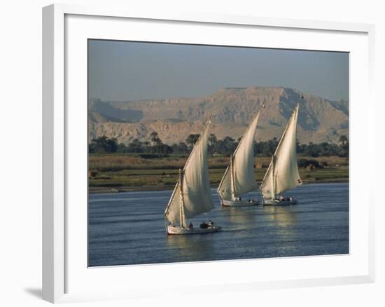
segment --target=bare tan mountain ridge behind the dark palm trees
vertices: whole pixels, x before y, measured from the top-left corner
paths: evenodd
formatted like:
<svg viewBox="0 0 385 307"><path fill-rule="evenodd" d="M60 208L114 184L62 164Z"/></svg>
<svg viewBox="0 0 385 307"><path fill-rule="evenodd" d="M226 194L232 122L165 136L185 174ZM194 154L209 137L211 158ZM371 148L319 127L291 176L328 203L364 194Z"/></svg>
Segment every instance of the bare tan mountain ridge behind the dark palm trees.
<svg viewBox="0 0 385 307"><path fill-rule="evenodd" d="M304 96L298 116L301 143L337 142L349 134L349 102L330 101L292 88L222 88L206 97L174 97L134 102L89 102L89 137L116 137L148 141L156 131L167 144L183 142L200 133L212 116L211 133L218 138L240 137L256 111L265 104L258 123L257 140L281 137L295 104Z"/></svg>

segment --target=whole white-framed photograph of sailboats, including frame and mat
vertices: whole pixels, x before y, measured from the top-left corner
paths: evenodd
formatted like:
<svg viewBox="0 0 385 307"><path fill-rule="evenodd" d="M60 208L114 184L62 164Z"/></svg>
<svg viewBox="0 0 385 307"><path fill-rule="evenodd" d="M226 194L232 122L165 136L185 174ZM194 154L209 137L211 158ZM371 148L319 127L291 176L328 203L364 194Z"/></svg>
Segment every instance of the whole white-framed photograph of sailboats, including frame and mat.
<svg viewBox="0 0 385 307"><path fill-rule="evenodd" d="M373 282L373 44L43 8L43 299Z"/></svg>

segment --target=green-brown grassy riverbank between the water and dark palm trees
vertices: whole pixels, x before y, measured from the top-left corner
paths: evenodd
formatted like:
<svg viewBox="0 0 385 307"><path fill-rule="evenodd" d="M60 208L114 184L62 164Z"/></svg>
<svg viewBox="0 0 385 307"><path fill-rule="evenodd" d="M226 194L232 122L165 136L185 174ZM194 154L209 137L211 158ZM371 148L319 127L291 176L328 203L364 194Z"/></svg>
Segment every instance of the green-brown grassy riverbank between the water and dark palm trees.
<svg viewBox="0 0 385 307"><path fill-rule="evenodd" d="M300 157L307 158L307 157ZM255 158L255 177L263 179L270 162L269 157ZM314 159L327 163L324 168L309 170L300 168L304 183L311 182L348 182L349 163L347 158L319 157ZM214 157L209 159L211 186L218 186L229 158ZM144 191L173 189L179 177L179 168L183 168L186 157L170 156L167 158L140 158L138 156L106 155L90 156L89 169L94 170L90 177L90 192L109 191Z"/></svg>

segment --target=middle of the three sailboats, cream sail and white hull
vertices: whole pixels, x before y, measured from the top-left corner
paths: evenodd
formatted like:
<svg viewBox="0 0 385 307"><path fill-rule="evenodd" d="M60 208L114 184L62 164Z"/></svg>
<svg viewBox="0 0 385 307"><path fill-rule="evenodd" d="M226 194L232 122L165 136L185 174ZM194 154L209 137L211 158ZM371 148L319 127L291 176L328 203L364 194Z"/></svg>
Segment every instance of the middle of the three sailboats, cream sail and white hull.
<svg viewBox="0 0 385 307"><path fill-rule="evenodd" d="M255 114L239 141L237 149L230 156L230 164L218 186L217 192L223 206L244 207L258 205L258 200L242 200L241 195L258 189L254 174L254 144L258 118L262 108Z"/></svg>

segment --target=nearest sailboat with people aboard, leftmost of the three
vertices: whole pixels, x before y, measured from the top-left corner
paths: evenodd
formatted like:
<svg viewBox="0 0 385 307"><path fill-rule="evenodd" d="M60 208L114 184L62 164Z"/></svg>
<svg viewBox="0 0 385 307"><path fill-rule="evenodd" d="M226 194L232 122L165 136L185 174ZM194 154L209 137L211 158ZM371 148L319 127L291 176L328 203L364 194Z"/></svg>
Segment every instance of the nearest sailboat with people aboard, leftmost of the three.
<svg viewBox="0 0 385 307"><path fill-rule="evenodd" d="M221 230L221 227L214 226L213 222L202 223L200 227L186 224L186 219L214 208L207 163L210 123L211 121L208 121L204 126L183 170L179 170L179 180L165 210L165 219L169 221L166 226L169 235L213 233Z"/></svg>

